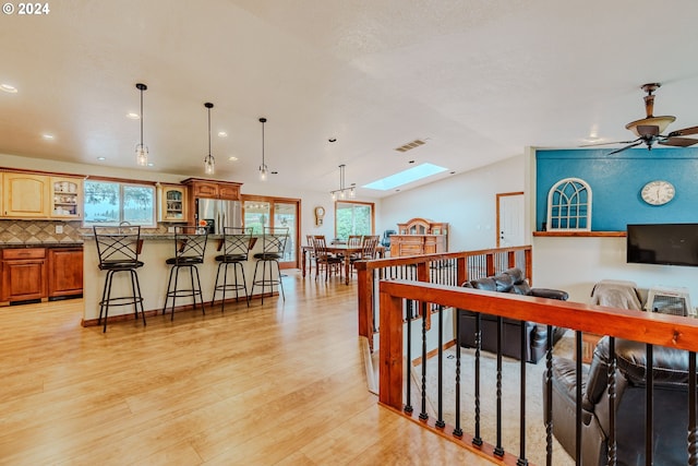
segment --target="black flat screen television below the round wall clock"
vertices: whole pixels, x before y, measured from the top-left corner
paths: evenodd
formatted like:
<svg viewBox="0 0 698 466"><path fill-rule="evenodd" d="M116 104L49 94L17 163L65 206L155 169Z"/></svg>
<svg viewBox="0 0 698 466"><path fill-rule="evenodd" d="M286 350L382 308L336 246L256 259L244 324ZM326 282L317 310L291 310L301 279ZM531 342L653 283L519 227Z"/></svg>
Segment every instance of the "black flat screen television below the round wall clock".
<svg viewBox="0 0 698 466"><path fill-rule="evenodd" d="M698 224L628 225L627 262L698 266Z"/></svg>

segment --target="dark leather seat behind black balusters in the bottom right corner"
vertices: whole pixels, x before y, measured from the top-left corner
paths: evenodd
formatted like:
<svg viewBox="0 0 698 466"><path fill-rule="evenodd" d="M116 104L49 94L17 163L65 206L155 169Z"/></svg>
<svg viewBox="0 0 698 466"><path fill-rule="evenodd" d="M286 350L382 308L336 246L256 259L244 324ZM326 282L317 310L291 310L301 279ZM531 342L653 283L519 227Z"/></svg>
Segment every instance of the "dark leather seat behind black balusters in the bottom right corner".
<svg viewBox="0 0 698 466"><path fill-rule="evenodd" d="M643 343L616 339L617 465L645 463ZM686 465L688 426L688 351L654 346L653 464ZM606 464L609 439L609 337L597 345L590 366L582 366L581 464ZM576 362L553 358L553 434L575 457ZM545 373L543 373L543 397ZM547 406L547 401L544 402ZM553 458L554 461L554 458ZM579 463L578 463L579 464Z"/></svg>

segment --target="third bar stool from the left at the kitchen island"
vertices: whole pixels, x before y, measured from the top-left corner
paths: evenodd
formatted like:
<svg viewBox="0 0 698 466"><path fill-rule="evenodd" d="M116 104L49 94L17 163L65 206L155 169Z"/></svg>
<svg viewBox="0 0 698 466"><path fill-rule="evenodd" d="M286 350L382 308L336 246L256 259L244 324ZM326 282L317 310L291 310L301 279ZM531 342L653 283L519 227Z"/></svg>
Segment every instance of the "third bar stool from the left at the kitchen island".
<svg viewBox="0 0 698 466"><path fill-rule="evenodd" d="M220 300L220 312L224 311L226 303L226 290L236 291L236 301L239 300L239 291L244 290L244 298L248 301L248 308L250 307L250 294L248 292L248 284L244 277L244 262L248 262L248 255L250 248L253 247L255 238L252 238L252 228L239 228L239 227L224 227L222 240L218 248L222 248L222 254L216 255L216 262L218 262L218 270L216 271L216 283L214 285L214 296L210 298L210 307L213 308L216 300L216 292L222 292L222 299ZM232 274L236 278L234 284L228 283L228 265L232 265ZM220 267L224 267L222 284L218 285L218 277L220 275ZM238 282L238 267L242 275L242 284Z"/></svg>

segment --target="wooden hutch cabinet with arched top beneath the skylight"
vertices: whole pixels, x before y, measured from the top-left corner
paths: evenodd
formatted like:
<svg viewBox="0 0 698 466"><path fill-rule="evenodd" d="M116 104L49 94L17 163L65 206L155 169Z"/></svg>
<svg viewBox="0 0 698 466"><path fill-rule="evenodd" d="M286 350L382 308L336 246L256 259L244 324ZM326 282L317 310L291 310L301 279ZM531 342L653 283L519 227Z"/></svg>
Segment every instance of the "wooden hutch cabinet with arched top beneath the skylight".
<svg viewBox="0 0 698 466"><path fill-rule="evenodd" d="M448 224L412 218L397 224L390 236L390 256L435 254L448 251Z"/></svg>

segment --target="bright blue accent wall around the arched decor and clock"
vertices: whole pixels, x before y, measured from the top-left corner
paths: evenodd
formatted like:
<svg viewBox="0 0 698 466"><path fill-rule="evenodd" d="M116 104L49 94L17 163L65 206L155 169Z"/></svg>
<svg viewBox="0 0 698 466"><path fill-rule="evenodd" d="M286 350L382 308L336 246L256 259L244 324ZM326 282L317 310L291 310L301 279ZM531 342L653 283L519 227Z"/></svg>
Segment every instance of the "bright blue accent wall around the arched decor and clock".
<svg viewBox="0 0 698 466"><path fill-rule="evenodd" d="M535 151L535 229L547 215L547 192L563 178L581 178L592 192L591 229L625 231L627 224L698 223L698 150L631 148ZM674 184L664 205L642 201L640 190L653 180Z"/></svg>

